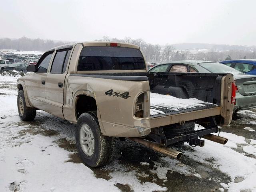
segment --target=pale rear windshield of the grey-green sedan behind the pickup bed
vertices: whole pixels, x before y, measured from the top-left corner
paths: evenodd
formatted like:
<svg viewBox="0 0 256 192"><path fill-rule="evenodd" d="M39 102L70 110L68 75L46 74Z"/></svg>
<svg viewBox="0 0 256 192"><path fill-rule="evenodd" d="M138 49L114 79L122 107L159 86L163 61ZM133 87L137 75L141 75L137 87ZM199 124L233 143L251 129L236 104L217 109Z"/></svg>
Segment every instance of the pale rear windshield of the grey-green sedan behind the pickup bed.
<svg viewBox="0 0 256 192"><path fill-rule="evenodd" d="M242 74L240 71L221 63L199 63L198 65L210 71L211 73Z"/></svg>

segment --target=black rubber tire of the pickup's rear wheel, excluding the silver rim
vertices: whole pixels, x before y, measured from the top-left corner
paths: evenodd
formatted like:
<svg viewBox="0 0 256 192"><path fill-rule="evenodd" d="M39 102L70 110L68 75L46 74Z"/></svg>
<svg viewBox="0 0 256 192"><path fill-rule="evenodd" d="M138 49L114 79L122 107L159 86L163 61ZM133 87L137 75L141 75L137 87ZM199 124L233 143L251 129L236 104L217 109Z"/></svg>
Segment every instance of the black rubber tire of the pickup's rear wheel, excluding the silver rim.
<svg viewBox="0 0 256 192"><path fill-rule="evenodd" d="M84 153L80 144L80 130L84 124L90 127L94 136L94 152L91 156ZM76 147L84 164L90 167L100 167L108 164L112 158L113 146L114 137L102 135L95 112L86 112L79 116L76 124Z"/></svg>

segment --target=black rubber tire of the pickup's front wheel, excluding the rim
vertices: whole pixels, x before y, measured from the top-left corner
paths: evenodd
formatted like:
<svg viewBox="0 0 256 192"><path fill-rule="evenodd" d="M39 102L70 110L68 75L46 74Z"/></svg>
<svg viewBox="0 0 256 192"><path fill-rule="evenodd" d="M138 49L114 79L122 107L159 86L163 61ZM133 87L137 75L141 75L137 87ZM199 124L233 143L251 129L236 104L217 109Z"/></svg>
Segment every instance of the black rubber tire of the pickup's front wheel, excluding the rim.
<svg viewBox="0 0 256 192"><path fill-rule="evenodd" d="M20 109L20 98L22 99L23 102L23 112L21 112ZM23 121L32 121L36 117L36 109L32 107L27 107L26 102L25 102L25 96L23 90L20 90L18 92L17 96L17 106L18 106L18 112L20 119Z"/></svg>

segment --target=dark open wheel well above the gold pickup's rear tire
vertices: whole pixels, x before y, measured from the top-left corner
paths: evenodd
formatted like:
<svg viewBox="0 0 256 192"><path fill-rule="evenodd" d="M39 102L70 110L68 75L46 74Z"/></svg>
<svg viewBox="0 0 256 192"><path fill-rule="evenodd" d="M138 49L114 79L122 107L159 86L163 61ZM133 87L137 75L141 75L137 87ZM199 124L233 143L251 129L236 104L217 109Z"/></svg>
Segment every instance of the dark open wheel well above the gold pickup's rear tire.
<svg viewBox="0 0 256 192"><path fill-rule="evenodd" d="M88 111L97 111L96 100L86 95L78 96L76 102L76 118L78 119L82 113Z"/></svg>

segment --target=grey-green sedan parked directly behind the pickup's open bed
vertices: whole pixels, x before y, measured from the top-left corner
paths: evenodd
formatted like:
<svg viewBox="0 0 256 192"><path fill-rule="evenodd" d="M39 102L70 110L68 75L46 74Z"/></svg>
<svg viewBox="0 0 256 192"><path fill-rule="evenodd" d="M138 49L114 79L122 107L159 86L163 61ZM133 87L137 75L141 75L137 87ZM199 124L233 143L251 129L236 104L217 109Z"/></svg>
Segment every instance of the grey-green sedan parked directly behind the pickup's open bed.
<svg viewBox="0 0 256 192"><path fill-rule="evenodd" d="M231 73L236 79L234 112L256 108L256 76L211 61L174 61L158 64L149 72ZM202 87L205 89L205 87Z"/></svg>

